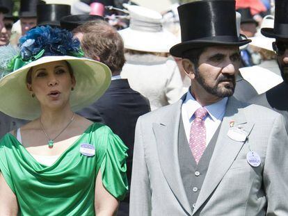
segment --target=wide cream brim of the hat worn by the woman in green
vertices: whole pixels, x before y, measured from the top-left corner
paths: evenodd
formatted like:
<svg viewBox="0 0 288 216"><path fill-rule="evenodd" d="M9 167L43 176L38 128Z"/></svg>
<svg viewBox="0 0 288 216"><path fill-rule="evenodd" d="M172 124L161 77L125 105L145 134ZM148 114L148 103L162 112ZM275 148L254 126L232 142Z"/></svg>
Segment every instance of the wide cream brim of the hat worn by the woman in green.
<svg viewBox="0 0 288 216"><path fill-rule="evenodd" d="M111 83L109 67L95 60L72 56L45 56L1 78L1 112L18 119L38 118L40 103L29 94L26 87L27 73L31 67L59 60L70 63L76 80L74 90L70 94L70 106L73 111L97 101Z"/></svg>

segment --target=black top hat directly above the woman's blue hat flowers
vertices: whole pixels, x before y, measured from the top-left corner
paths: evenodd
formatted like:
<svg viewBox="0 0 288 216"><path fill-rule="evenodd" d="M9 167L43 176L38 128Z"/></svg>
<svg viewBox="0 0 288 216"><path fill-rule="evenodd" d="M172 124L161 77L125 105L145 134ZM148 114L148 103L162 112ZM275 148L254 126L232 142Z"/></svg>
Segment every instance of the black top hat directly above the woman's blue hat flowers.
<svg viewBox="0 0 288 216"><path fill-rule="evenodd" d="M67 4L39 4L37 6L37 26L59 26L62 17L71 15Z"/></svg>

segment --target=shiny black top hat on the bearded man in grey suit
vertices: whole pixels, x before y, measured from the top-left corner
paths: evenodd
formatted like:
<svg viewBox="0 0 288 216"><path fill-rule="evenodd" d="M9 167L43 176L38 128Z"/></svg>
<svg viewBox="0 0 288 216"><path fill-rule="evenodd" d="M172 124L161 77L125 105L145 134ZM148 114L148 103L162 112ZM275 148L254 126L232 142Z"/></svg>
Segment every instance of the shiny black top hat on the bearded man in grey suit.
<svg viewBox="0 0 288 216"><path fill-rule="evenodd" d="M173 56L198 47L248 44L237 35L235 1L206 0L178 7L182 43L170 49Z"/></svg>

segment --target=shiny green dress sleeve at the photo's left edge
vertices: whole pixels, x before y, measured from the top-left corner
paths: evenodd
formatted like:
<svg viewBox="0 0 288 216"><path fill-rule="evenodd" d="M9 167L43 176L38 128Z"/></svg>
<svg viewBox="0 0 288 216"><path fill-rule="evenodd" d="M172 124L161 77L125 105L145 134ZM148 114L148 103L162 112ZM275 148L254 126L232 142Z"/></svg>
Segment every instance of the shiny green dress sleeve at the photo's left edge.
<svg viewBox="0 0 288 216"><path fill-rule="evenodd" d="M10 175L10 169L8 165L8 158L9 154L12 153L12 144L9 144L9 140L7 139L8 134L6 134L1 140L0 140L0 172L3 175L3 178L5 179L8 186L11 188L11 190L15 193L15 186L13 183L13 179ZM13 160L13 158L11 158Z"/></svg>

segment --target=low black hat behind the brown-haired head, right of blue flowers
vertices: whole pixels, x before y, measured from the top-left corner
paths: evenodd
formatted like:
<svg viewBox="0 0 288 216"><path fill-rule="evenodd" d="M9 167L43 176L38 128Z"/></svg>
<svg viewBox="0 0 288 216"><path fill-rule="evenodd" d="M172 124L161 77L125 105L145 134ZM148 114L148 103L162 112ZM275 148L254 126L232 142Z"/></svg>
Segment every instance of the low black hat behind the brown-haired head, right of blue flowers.
<svg viewBox="0 0 288 216"><path fill-rule="evenodd" d="M60 24L61 28L66 28L68 31L73 31L73 29L77 28L77 26L97 19L104 20L104 17L98 15L71 15L63 17L60 21Z"/></svg>

